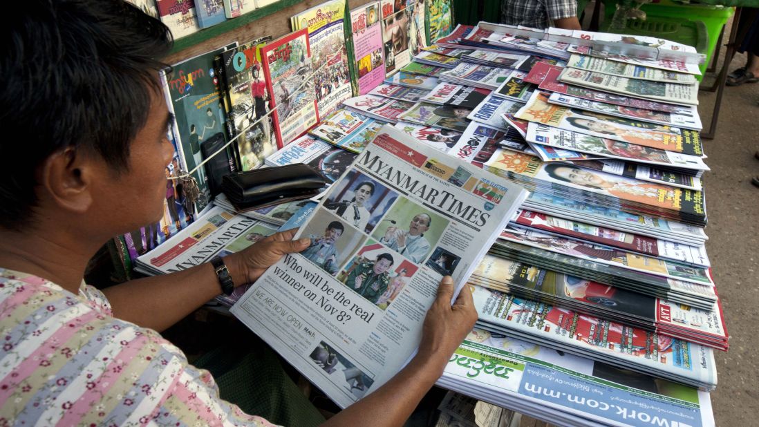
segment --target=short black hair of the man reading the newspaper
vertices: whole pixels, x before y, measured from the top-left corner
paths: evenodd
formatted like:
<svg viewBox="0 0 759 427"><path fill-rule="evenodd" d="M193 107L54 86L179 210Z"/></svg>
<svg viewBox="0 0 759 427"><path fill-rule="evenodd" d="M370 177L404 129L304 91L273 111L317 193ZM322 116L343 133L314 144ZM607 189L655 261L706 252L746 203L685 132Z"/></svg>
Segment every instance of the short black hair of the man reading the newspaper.
<svg viewBox="0 0 759 427"><path fill-rule="evenodd" d="M0 227L21 231L36 171L55 152L77 147L117 174L129 167L172 36L123 0L28 0L0 28Z"/></svg>

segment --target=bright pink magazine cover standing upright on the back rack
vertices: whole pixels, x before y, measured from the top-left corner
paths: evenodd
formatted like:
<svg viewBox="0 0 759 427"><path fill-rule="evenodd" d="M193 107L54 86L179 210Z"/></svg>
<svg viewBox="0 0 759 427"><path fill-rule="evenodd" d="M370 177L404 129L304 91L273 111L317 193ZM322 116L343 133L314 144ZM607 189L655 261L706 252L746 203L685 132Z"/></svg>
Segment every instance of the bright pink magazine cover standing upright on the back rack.
<svg viewBox="0 0 759 427"><path fill-rule="evenodd" d="M351 11L353 61L358 93L364 95L385 80L385 56L379 2L369 2Z"/></svg>

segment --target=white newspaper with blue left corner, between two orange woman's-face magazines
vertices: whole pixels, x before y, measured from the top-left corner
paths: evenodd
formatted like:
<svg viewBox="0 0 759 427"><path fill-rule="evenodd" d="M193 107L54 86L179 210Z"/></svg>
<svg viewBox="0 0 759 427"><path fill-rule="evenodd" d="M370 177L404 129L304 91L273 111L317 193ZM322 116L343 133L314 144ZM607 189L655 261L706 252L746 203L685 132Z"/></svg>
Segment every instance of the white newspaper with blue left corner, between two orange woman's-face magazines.
<svg viewBox="0 0 759 427"><path fill-rule="evenodd" d="M610 159L627 160L670 168L694 169L696 171L709 170L709 167L699 155L682 154L634 143L626 143L624 141L610 140L604 137L594 137L587 133L562 130L559 127L537 124L536 122L528 124L527 137L525 139L531 143L587 152L595 154L598 157L603 156Z"/></svg>

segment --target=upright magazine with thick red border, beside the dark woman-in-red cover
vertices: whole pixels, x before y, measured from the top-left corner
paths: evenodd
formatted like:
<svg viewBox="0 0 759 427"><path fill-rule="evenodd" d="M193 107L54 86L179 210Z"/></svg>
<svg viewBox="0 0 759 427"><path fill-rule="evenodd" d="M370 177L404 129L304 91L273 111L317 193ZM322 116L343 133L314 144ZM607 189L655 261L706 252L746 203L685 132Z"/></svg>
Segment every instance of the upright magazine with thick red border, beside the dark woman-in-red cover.
<svg viewBox="0 0 759 427"><path fill-rule="evenodd" d="M259 47L263 76L274 108L277 146L282 148L319 122L306 28Z"/></svg>

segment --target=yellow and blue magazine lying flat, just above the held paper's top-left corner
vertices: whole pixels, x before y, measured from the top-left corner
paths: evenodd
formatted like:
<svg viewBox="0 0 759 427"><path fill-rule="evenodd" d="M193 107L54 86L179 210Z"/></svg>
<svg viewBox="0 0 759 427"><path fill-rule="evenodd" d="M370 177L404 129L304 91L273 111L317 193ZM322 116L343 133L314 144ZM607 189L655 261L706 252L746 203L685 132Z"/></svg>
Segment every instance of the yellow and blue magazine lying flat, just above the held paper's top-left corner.
<svg viewBox="0 0 759 427"><path fill-rule="evenodd" d="M339 109L309 131L332 145L352 152L361 152L373 139L379 127L385 124L355 111Z"/></svg>

